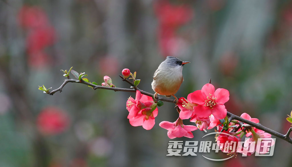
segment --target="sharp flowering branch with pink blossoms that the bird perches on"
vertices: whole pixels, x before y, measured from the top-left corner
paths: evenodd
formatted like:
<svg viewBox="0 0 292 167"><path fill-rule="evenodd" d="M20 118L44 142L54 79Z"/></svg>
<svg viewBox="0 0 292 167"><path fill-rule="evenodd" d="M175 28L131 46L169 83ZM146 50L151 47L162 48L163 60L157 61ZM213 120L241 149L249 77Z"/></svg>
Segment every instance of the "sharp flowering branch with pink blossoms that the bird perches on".
<svg viewBox="0 0 292 167"><path fill-rule="evenodd" d="M129 69L124 69L122 71L123 76L119 75L119 77L121 77L123 81L130 84L131 89L117 88L114 84L112 84L112 79L108 76L104 77L105 83L102 83L102 86L99 86L96 82L91 83L88 81L87 78L82 78L84 76L87 76L85 73L79 74L76 71L71 70L71 73L77 79L70 79L69 72L67 72L66 70L62 71L65 73L64 76L67 77L67 79L64 80L59 88L50 92L49 90L51 88L46 89L43 85L39 86L39 90L43 90L44 93L53 95L58 91L62 92L64 86L67 83L71 82L85 84L93 88L93 90L106 89L114 91L136 92L136 99L129 97L126 103L127 110L129 111L128 119L130 121L130 124L133 126L142 125L144 129L151 129L154 126L154 120L158 113L157 106L163 105L163 103L159 101L174 103L174 101L171 99L161 97L158 97L157 99L155 98L153 100L152 98L154 98L154 94L140 90L137 87L137 85L140 83L140 79L135 79L136 72L132 74ZM130 79L133 79L133 82L127 79L129 76L132 77ZM274 135L292 144L292 139L289 137L290 133L292 132L292 127L284 135L261 125L260 123L258 123L259 120L257 118L251 118L247 113L243 113L239 117L228 112L225 109L224 103L229 100L229 91L223 88L218 88L215 91L214 86L211 84L211 79L209 80L209 83L203 86L202 90L194 91L191 94L188 96L188 99L181 97L178 100L178 105L175 106L175 108L179 113L179 118L175 122L163 121L159 124L159 126L169 130L169 138L182 136L192 138L193 135L191 131L193 130L205 130L207 128L211 129L222 124L223 127L221 127L221 132L223 132L224 130L227 132L228 129L231 129L231 131L228 132L230 132L230 134L233 136L239 135L239 138L242 138L244 134L246 134L247 137L252 134L253 138L251 138L251 140L257 141L259 137L270 138L271 135ZM194 108L196 108L196 110L194 110ZM229 117L229 119L227 116ZM183 119L188 118L191 118L190 121L195 122L197 124L197 127L193 125L184 125ZM291 121L292 123L291 116L289 116L287 120L289 122ZM175 128L177 127L181 127L181 129L176 130Z"/></svg>

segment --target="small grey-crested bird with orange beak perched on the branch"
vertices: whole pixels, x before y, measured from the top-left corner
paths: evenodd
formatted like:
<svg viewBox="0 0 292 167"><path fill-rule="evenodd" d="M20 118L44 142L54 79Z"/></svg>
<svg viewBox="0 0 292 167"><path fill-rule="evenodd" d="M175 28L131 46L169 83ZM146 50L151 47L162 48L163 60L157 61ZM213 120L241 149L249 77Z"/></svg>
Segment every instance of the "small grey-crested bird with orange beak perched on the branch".
<svg viewBox="0 0 292 167"><path fill-rule="evenodd" d="M183 82L183 65L190 63L189 61L181 61L180 59L167 56L157 70L154 72L153 81L151 83L154 90L154 98L157 94L165 95L166 97L175 97L175 93L180 88ZM175 97L176 103L178 98Z"/></svg>

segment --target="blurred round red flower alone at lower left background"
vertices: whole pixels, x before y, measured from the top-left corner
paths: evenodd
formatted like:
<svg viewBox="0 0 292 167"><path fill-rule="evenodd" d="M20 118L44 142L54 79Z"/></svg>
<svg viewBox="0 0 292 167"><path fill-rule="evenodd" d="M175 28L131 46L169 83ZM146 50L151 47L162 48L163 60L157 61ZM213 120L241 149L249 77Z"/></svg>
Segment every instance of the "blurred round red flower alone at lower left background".
<svg viewBox="0 0 292 167"><path fill-rule="evenodd" d="M59 134L69 126L69 118L66 113L57 107L50 106L41 110L37 117L39 131L44 134Z"/></svg>

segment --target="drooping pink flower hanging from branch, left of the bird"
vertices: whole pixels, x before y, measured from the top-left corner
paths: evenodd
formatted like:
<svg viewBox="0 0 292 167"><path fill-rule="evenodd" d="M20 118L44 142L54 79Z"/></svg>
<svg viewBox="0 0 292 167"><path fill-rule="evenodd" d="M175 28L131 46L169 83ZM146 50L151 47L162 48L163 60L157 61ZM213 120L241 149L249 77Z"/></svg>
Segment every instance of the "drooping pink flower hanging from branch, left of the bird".
<svg viewBox="0 0 292 167"><path fill-rule="evenodd" d="M128 119L132 126L142 126L146 130L152 129L158 114L157 104L153 102L152 97L142 95L137 90L135 100L129 97L126 106L129 111Z"/></svg>

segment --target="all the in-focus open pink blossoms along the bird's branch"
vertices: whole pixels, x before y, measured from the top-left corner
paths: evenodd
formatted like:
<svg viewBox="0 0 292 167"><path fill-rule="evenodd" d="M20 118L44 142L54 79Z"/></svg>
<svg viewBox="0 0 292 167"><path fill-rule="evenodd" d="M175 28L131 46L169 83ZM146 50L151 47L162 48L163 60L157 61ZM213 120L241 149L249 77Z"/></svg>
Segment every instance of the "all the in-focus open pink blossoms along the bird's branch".
<svg viewBox="0 0 292 167"><path fill-rule="evenodd" d="M215 90L212 84L207 83L201 90L190 93L187 99L184 97L179 99L178 107L180 112L175 122L162 121L159 126L168 130L167 135L171 139L183 136L193 138L192 131L194 130L205 131L206 129L217 127L217 130L215 130L218 132L215 137L217 144L223 152L227 152L230 155L237 153L237 149L239 149L237 143L241 141L244 135L246 137L251 136L251 138L245 141L244 146L240 147L242 154L251 155L255 150L250 151L248 149L251 146L256 146L258 138L271 138L271 134L236 120L226 125L227 110L224 104L228 100L228 90L223 88ZM141 92L137 90L135 99L132 97L128 98L126 108L129 111L128 119L131 125L142 125L147 130L154 126L158 109L152 97L141 95ZM247 113L243 113L241 117L259 123L257 118L251 118ZM194 122L196 126L183 124L183 120L189 118L190 122ZM232 146L231 150L226 150L224 146L226 143L234 143L234 145L230 145L230 148Z"/></svg>

